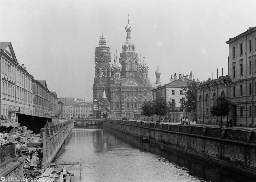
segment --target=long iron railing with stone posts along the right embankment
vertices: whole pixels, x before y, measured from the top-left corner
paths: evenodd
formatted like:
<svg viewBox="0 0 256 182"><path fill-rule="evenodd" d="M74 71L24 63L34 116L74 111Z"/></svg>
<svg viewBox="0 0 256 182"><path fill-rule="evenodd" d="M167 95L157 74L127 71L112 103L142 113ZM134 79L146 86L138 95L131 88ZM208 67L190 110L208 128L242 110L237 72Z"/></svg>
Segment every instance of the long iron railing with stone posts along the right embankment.
<svg viewBox="0 0 256 182"><path fill-rule="evenodd" d="M114 119L104 119L104 121L121 123L126 125L136 125L139 127L153 128L157 130L167 130L180 133L191 133L196 135L218 137L221 139L231 139L246 141L247 143L256 143L256 131L251 130L239 130L239 129L227 129L227 128L215 128L207 126L187 126L187 125L168 125L160 123L148 123L140 121L122 121Z"/></svg>

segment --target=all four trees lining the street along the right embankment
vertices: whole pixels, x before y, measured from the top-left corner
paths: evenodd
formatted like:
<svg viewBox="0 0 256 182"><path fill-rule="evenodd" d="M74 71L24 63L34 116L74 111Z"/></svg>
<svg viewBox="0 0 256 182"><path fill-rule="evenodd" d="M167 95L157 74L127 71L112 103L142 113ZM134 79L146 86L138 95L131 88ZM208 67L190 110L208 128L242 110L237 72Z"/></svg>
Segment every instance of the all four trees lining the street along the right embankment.
<svg viewBox="0 0 256 182"><path fill-rule="evenodd" d="M188 112L196 111L196 84L200 83L200 80L188 83L187 87L183 87L184 97L180 98L181 108L186 108ZM162 96L157 96L153 101L145 101L141 106L141 114L147 117L153 115L159 116L159 123L161 121L161 115L165 115L167 112L175 111L176 104L172 100L166 103L166 100ZM216 103L211 107L212 116L220 116L220 127L222 127L222 117L226 116L230 112L230 102L225 96L217 98ZM148 119L147 119L148 120Z"/></svg>

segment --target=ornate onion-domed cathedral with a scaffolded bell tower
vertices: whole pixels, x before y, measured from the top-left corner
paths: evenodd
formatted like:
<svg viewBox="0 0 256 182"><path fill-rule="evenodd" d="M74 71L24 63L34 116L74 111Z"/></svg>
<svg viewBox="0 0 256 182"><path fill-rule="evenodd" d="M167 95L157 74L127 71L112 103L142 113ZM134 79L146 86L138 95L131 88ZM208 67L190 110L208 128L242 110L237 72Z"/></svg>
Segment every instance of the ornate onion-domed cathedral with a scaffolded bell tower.
<svg viewBox="0 0 256 182"><path fill-rule="evenodd" d="M138 58L132 43L132 26L125 26L126 41L120 57L111 65L110 48L105 37L100 37L95 48L95 78L93 83L93 117L136 119L143 101L152 100L152 85L148 79L149 65L145 54ZM161 72L160 72L161 74ZM160 80L159 80L160 81Z"/></svg>

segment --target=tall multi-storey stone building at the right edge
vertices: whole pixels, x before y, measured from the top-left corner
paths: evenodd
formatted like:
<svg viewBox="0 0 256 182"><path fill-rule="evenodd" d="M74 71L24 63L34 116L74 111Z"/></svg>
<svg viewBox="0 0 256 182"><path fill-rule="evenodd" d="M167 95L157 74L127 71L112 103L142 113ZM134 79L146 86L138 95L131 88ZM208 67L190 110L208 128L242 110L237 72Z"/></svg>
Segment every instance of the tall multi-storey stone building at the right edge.
<svg viewBox="0 0 256 182"><path fill-rule="evenodd" d="M230 117L239 126L256 126L256 27L229 39Z"/></svg>

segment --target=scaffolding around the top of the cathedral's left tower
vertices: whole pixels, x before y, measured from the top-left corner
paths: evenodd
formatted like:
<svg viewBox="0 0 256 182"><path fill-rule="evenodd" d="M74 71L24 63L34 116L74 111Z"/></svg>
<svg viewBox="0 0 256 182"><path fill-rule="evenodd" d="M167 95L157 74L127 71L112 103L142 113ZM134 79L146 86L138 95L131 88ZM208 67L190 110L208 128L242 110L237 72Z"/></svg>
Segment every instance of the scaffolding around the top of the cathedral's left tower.
<svg viewBox="0 0 256 182"><path fill-rule="evenodd" d="M95 47L95 66L110 66L110 47L106 46L106 38L100 36L99 47Z"/></svg>

